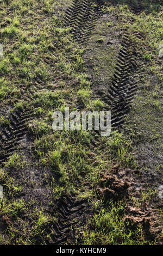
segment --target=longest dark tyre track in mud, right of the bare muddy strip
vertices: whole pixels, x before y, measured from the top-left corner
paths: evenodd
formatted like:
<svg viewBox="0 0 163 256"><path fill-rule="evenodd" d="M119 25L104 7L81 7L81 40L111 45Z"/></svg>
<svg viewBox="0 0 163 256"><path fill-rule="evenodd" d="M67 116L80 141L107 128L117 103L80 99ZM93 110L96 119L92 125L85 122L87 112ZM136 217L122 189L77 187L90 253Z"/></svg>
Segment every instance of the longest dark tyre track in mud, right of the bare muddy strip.
<svg viewBox="0 0 163 256"><path fill-rule="evenodd" d="M132 34L134 35L134 34ZM141 38L140 34L134 36ZM122 127L124 117L129 111L131 102L137 90L137 82L134 81L137 73L136 46L124 33L121 50L117 57L114 78L108 90L108 98L111 102L111 126L114 129Z"/></svg>

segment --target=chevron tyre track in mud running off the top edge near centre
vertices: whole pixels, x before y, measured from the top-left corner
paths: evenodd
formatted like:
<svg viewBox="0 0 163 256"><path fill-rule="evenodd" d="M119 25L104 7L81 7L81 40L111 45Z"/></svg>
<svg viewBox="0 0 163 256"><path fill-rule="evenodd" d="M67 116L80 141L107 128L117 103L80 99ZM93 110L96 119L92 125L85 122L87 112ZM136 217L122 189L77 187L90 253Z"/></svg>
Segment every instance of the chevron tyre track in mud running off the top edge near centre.
<svg viewBox="0 0 163 256"><path fill-rule="evenodd" d="M74 39L82 44L92 33L95 22L102 14L101 1L74 0L65 13L65 25L72 27Z"/></svg>

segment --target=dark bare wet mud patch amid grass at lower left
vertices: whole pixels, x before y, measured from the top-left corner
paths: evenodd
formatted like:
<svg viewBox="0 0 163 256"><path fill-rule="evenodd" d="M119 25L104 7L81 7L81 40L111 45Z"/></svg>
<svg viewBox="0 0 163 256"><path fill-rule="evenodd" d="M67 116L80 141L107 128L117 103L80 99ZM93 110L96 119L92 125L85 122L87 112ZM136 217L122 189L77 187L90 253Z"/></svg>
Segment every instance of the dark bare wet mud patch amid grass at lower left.
<svg viewBox="0 0 163 256"><path fill-rule="evenodd" d="M26 148L27 142L24 138L20 145L20 152L17 151L18 161L21 166L15 163L14 167L7 170L9 175L22 186L22 191L18 195L19 199L30 202L33 200L36 205L42 205L45 210L50 209L49 198L51 196L50 183L52 177L55 175L52 170L43 167L37 162L33 161L32 152ZM32 143L28 142L28 148L32 147ZM8 194L6 194L8 196Z"/></svg>

